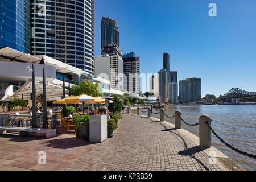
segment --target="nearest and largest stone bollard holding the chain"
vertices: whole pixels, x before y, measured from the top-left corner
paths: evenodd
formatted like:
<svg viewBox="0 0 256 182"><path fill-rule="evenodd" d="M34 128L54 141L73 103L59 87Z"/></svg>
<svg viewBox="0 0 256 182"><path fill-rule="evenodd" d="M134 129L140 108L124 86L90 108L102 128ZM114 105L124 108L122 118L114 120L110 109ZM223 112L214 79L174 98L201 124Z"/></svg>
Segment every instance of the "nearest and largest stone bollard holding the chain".
<svg viewBox="0 0 256 182"><path fill-rule="evenodd" d="M207 121L210 124L210 117L209 115L201 115L199 118L199 143L200 146L203 147L210 147L211 144L211 132L209 126L207 125Z"/></svg>

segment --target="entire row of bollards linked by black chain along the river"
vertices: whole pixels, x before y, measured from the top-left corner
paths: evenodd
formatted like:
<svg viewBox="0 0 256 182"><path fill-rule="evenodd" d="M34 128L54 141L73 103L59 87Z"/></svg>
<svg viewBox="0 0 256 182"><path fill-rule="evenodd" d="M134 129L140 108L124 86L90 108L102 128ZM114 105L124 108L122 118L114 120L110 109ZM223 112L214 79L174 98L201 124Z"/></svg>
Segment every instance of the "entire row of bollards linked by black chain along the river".
<svg viewBox="0 0 256 182"><path fill-rule="evenodd" d="M148 108L144 108L144 109L147 109L147 111L142 111L139 107L137 107L137 115L140 115L142 113L148 113L148 117L151 117L151 113L152 112L152 109L150 107ZM130 107L129 107L129 113L130 113ZM236 147L233 147L232 145L226 143L220 136L218 136L218 134L212 129L212 126L211 126L211 121L213 121L209 115L201 115L199 117L199 122L198 123L194 123L194 124L190 124L190 123L187 123L184 121L184 119L181 117L181 111L179 110L176 110L175 111L175 114L173 116L168 116L166 113L164 113L164 109L160 109L159 111L160 113L160 121L164 121L164 115L166 115L166 117L168 118L175 118L175 129L181 129L181 121L183 121L186 125L189 125L189 126L197 126L199 125L199 143L200 143L200 146L203 146L203 147L211 147L212 144L211 144L211 132L222 142L225 144L225 146L229 147L230 149L238 152L239 154L242 154L242 155L245 155L245 156L249 156L250 158L254 158L256 159L256 155L254 154L249 154L248 152L245 152L245 151L242 151L242 150L239 150L238 148ZM159 114L159 113L153 113L153 114Z"/></svg>

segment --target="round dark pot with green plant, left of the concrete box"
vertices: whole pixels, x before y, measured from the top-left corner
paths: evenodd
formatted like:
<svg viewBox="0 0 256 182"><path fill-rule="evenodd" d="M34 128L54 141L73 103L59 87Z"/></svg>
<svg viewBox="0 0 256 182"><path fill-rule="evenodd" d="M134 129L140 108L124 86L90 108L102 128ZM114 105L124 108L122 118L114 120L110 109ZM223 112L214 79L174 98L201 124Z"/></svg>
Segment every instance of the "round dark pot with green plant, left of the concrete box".
<svg viewBox="0 0 256 182"><path fill-rule="evenodd" d="M89 114L77 114L76 117L73 117L76 138L81 138L83 140L89 139L89 118Z"/></svg>

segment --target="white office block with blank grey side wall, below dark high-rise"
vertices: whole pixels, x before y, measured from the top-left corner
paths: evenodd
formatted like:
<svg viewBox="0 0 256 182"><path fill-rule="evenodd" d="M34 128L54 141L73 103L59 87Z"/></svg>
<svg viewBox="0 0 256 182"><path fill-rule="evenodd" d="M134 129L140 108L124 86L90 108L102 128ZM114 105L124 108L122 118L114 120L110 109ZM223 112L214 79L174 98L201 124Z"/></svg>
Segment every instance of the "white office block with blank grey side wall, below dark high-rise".
<svg viewBox="0 0 256 182"><path fill-rule="evenodd" d="M95 73L110 81L110 88L123 90L123 60L115 55L99 55L95 59Z"/></svg>

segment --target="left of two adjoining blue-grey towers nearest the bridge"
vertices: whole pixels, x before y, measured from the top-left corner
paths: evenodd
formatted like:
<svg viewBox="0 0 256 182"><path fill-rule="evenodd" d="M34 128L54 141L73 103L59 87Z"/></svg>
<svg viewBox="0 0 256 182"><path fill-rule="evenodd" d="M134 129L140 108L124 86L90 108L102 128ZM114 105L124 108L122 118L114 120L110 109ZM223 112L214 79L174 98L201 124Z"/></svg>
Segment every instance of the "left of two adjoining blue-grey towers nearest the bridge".
<svg viewBox="0 0 256 182"><path fill-rule="evenodd" d="M191 102L190 100L190 81L180 80L179 81L179 102Z"/></svg>

